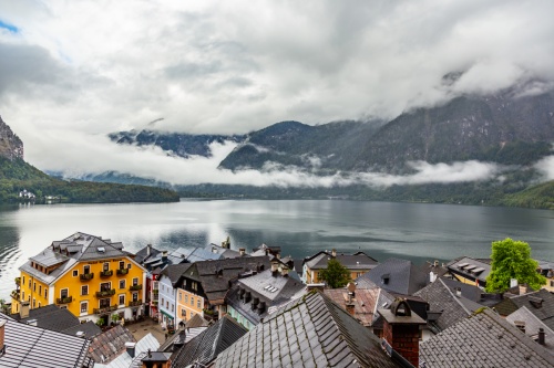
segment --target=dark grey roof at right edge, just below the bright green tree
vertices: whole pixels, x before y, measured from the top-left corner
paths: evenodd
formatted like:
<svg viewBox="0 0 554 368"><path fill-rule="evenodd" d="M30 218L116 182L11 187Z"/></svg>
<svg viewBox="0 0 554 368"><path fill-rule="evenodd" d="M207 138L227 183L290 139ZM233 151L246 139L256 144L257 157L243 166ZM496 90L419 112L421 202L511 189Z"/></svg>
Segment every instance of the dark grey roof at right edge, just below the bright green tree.
<svg viewBox="0 0 554 368"><path fill-rule="evenodd" d="M554 294L541 288L537 292L504 298L494 308L501 316L507 316L522 306L526 306L546 326L554 329Z"/></svg>

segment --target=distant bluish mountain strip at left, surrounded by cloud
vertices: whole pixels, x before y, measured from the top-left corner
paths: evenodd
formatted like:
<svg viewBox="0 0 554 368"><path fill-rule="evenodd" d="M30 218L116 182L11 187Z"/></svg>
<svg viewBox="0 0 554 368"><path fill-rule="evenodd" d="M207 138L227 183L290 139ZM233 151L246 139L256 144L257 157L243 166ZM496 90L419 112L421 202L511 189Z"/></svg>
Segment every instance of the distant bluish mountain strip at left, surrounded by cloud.
<svg viewBox="0 0 554 368"><path fill-rule="evenodd" d="M191 156L211 157L209 145L213 143L223 144L225 141L240 143L244 135L191 135L178 133L162 133L156 130L130 130L119 132L109 135L110 139L122 145L157 146L168 155L183 158Z"/></svg>

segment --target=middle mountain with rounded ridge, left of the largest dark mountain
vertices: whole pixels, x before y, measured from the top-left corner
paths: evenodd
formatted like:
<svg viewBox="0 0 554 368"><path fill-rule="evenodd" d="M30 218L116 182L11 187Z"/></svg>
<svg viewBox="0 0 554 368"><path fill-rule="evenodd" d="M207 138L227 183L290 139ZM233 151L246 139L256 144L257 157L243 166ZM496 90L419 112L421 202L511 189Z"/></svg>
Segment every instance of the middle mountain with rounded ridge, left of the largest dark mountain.
<svg viewBox="0 0 554 368"><path fill-rule="evenodd" d="M219 166L233 170L259 170L266 162L277 162L316 170L341 170L355 164L368 137L375 135L381 125L380 120L316 126L298 122L277 123L250 133Z"/></svg>

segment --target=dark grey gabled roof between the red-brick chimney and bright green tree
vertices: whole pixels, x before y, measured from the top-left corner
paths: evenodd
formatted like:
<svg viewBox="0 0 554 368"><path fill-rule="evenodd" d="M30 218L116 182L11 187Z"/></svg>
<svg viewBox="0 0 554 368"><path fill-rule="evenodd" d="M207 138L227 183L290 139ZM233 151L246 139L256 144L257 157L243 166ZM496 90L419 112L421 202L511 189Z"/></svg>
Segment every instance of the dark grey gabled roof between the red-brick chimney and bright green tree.
<svg viewBox="0 0 554 368"><path fill-rule="evenodd" d="M421 296L429 303L430 312L442 311L440 317L434 322L439 330L444 330L458 322L468 318L474 311L482 307L469 301L463 295L455 296L454 292L442 278L437 278L435 282L423 287L414 295ZM433 323L430 326L434 327Z"/></svg>

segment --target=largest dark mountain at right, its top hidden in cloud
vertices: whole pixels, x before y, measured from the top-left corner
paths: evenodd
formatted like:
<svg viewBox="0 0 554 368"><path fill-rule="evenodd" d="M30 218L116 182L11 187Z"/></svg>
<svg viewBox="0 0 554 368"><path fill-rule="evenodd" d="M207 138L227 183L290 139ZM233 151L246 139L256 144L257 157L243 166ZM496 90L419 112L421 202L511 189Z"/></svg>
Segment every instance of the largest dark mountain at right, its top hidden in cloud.
<svg viewBox="0 0 554 368"><path fill-rule="evenodd" d="M391 170L410 160L530 165L554 141L554 94L461 96L406 113L368 137L351 170Z"/></svg>

